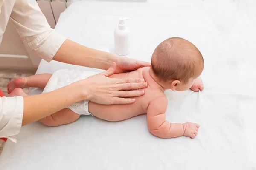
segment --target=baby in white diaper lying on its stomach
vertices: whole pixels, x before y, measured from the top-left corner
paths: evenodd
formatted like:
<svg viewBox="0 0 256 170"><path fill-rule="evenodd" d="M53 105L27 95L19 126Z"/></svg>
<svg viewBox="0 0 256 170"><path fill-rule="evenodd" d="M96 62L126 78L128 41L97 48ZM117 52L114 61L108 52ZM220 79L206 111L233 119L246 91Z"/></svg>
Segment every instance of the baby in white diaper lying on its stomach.
<svg viewBox="0 0 256 170"><path fill-rule="evenodd" d="M197 123L169 123L165 120L168 100L166 89L172 91L203 90L203 84L197 77L204 68L204 59L191 42L173 37L161 42L151 58L151 67L144 67L129 73L114 74L111 78L143 78L148 83L145 94L136 97L136 102L125 105L101 105L88 101L75 103L41 119L45 125L59 126L76 121L81 114L92 114L107 121L121 121L147 114L148 130L160 138L188 136L192 139L198 134ZM15 88L44 88L43 93L61 88L79 79L97 74L88 71L59 70L54 74L37 74L12 80L8 84L9 92Z"/></svg>

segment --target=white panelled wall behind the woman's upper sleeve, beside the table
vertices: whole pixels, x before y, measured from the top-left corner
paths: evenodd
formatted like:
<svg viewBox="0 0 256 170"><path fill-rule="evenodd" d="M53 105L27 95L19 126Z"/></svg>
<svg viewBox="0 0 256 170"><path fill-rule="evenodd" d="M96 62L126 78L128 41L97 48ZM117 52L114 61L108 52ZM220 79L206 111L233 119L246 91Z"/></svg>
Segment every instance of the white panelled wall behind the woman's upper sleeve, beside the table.
<svg viewBox="0 0 256 170"><path fill-rule="evenodd" d="M69 0L67 0L69 1ZM38 0L38 6L47 18L49 25L54 28L58 17L71 2ZM9 21L0 45L0 68L36 69L41 59L33 52L27 51L20 36Z"/></svg>

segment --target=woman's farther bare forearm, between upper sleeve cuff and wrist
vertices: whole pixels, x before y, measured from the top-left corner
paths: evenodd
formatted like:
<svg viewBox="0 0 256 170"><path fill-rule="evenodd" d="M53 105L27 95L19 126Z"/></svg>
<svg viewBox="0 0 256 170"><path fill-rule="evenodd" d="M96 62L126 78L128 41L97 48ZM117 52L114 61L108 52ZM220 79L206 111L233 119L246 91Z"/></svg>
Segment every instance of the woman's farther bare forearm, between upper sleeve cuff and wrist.
<svg viewBox="0 0 256 170"><path fill-rule="evenodd" d="M67 39L61 45L53 60L107 70L112 62L116 62L116 58L113 54L88 48Z"/></svg>

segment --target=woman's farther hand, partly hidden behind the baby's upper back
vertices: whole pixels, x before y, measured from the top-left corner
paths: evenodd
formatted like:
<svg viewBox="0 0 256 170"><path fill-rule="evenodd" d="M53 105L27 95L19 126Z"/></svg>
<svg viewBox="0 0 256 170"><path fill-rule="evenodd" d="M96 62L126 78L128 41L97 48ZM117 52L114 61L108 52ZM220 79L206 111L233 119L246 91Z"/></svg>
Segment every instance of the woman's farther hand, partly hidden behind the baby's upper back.
<svg viewBox="0 0 256 170"><path fill-rule="evenodd" d="M137 70L142 67L150 67L151 64L149 62L138 61L136 59L131 59L127 57L118 57L116 59L116 72L122 73L126 71Z"/></svg>

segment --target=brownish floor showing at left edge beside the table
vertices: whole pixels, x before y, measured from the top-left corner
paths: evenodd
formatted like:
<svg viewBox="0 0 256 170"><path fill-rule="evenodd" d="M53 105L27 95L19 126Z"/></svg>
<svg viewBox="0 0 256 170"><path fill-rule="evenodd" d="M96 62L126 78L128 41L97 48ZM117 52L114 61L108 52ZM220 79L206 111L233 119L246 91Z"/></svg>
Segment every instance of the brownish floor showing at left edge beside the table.
<svg viewBox="0 0 256 170"><path fill-rule="evenodd" d="M8 70L0 69L0 89L3 93L7 94L7 83L17 77L28 77L35 74L35 70ZM24 89L24 92L28 93L28 89ZM0 139L0 155L2 153L5 142Z"/></svg>

